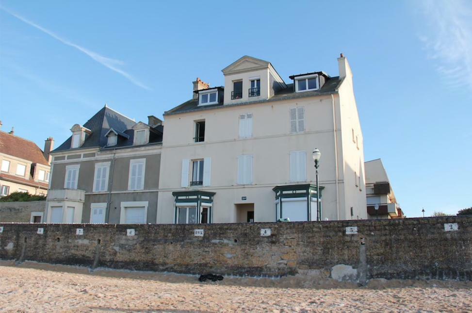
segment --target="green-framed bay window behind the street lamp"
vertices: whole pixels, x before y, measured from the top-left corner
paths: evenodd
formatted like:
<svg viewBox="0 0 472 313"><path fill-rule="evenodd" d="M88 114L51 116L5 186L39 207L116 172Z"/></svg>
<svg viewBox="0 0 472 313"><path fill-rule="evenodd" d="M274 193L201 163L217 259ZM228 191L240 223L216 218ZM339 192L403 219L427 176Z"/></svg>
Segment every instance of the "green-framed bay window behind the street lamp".
<svg viewBox="0 0 472 313"><path fill-rule="evenodd" d="M320 186L320 211L323 217L322 191ZM276 221L280 218L288 218L291 222L316 221L316 185L296 184L279 185L272 190L276 193Z"/></svg>

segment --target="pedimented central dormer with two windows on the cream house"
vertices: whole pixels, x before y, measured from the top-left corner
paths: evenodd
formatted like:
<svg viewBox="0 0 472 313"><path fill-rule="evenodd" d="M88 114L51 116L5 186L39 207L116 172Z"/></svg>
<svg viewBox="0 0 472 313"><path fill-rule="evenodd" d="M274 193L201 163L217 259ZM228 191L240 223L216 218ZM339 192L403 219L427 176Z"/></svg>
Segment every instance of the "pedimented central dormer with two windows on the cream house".
<svg viewBox="0 0 472 313"><path fill-rule="evenodd" d="M224 104L265 100L287 88L270 62L245 55L222 69L225 75Z"/></svg>

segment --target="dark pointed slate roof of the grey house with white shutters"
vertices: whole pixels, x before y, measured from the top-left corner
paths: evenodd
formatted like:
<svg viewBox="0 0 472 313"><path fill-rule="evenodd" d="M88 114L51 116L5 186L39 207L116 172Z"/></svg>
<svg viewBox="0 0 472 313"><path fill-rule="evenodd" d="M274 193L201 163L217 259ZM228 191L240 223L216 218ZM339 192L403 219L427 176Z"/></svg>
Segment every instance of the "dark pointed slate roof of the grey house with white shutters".
<svg viewBox="0 0 472 313"><path fill-rule="evenodd" d="M65 140L62 145L55 148L53 152L58 151L65 151L65 150L78 150L83 148L103 148L106 147L108 138L106 134L110 131L110 129L114 129L114 131L124 134L125 136L118 136L118 142L115 146L109 148L120 148L120 147L127 147L132 146L133 138L134 138L134 131L131 129L133 125L136 124L135 121L122 115L107 106L104 106L100 111L98 111L94 116L92 116L83 127L88 128L92 133L90 135L86 135L85 141L83 142L80 148L70 148L70 144L72 141L72 135ZM150 129L150 138L149 144L162 142L162 132L163 126L159 125L155 128ZM126 138L128 137L128 138ZM151 141L152 140L152 141Z"/></svg>

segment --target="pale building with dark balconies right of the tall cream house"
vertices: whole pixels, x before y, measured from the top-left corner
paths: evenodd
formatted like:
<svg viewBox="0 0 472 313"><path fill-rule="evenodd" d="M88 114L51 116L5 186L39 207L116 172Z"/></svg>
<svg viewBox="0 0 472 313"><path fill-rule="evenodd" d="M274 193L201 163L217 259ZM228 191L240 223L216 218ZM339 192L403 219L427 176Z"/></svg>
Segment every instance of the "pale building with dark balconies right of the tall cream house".
<svg viewBox="0 0 472 313"><path fill-rule="evenodd" d="M367 161L364 167L369 218L403 218L382 160Z"/></svg>

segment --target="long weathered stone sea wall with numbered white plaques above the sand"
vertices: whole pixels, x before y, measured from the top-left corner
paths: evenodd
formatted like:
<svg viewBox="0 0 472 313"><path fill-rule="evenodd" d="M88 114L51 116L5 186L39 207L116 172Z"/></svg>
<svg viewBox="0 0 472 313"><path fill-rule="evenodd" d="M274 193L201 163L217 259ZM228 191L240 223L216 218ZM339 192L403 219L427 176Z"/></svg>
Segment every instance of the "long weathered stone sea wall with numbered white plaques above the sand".
<svg viewBox="0 0 472 313"><path fill-rule="evenodd" d="M445 223L456 223L457 230L445 231ZM0 223L0 227L0 258L8 260L234 275L322 270L333 278L360 282L472 280L472 216L213 225ZM346 234L346 227L357 227L358 232ZM44 233L38 234L38 228ZM77 229L83 229L83 235L77 235ZM128 229L134 236L127 235ZM195 229L204 230L203 236L195 236ZM261 229L270 229L271 235L261 236Z"/></svg>

